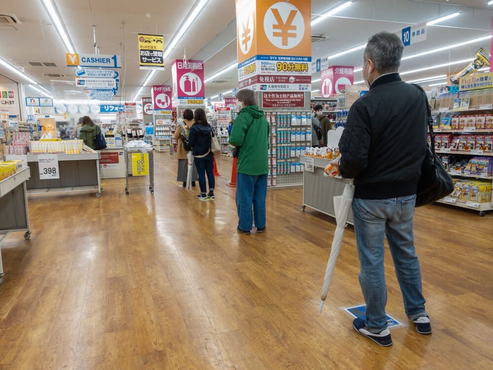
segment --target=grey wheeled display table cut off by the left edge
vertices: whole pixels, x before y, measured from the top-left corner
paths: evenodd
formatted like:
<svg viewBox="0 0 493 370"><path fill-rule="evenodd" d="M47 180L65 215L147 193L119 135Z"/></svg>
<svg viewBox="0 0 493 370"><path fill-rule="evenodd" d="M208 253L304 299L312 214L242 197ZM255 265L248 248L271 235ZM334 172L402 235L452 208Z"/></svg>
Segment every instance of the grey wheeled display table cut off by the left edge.
<svg viewBox="0 0 493 370"><path fill-rule="evenodd" d="M23 232L31 238L26 181L31 177L29 167L0 181L0 243L11 232ZM3 262L0 247L0 284L3 281Z"/></svg>

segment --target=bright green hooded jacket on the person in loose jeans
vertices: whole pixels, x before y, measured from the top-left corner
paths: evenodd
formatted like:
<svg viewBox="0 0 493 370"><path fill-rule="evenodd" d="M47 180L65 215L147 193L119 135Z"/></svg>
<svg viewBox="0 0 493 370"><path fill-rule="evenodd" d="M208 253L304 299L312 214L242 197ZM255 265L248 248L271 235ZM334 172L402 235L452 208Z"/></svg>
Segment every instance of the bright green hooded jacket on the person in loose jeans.
<svg viewBox="0 0 493 370"><path fill-rule="evenodd" d="M269 123L258 106L245 107L238 113L229 144L241 147L238 173L250 176L269 173Z"/></svg>

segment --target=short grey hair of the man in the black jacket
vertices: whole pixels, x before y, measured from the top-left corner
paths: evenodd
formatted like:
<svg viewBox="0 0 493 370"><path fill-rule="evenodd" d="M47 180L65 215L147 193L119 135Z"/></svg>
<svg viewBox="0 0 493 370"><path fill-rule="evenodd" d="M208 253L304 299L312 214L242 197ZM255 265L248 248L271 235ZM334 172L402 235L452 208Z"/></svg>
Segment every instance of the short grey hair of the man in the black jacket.
<svg viewBox="0 0 493 370"><path fill-rule="evenodd" d="M404 44L390 32L380 32L368 39L364 59L371 59L380 73L397 72L400 67Z"/></svg>

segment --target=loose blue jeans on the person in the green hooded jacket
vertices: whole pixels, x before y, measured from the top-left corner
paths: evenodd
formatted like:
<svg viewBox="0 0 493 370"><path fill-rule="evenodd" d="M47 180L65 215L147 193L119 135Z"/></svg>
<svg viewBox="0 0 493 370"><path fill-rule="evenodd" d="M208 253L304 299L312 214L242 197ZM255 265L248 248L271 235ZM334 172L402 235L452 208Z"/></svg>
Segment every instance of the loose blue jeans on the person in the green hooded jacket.
<svg viewBox="0 0 493 370"><path fill-rule="evenodd" d="M238 209L238 226L240 230L250 231L253 220L255 220L255 227L265 227L267 175L250 176L238 174L236 182L236 208Z"/></svg>

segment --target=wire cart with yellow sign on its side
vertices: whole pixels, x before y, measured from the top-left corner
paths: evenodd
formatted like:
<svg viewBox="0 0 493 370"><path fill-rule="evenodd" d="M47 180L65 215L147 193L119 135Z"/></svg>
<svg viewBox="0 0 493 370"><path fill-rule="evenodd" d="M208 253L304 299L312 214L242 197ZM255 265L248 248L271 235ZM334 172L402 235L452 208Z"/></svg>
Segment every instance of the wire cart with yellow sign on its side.
<svg viewBox="0 0 493 370"><path fill-rule="evenodd" d="M154 155L152 147L125 147L125 193L130 190L147 190L154 193Z"/></svg>

